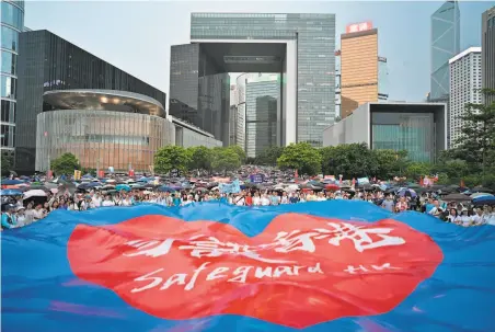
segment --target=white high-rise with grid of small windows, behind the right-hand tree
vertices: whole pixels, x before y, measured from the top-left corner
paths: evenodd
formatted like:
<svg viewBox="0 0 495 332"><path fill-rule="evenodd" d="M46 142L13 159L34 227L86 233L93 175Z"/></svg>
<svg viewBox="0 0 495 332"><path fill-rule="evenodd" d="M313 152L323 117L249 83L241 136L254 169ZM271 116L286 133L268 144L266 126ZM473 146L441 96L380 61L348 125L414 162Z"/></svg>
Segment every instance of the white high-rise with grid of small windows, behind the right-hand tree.
<svg viewBox="0 0 495 332"><path fill-rule="evenodd" d="M481 47L470 47L449 60L450 68L450 146L458 146L462 136L464 122L461 116L465 113L465 104L482 102L481 81Z"/></svg>

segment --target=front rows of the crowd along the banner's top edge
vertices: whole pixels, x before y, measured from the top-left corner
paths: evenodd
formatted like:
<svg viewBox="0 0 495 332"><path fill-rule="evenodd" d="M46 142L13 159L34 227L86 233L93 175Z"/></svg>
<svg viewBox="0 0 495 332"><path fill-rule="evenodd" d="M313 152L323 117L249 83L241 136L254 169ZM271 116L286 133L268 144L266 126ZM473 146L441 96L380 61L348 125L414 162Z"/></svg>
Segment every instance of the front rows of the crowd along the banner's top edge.
<svg viewBox="0 0 495 332"><path fill-rule="evenodd" d="M459 226L495 225L495 210L491 206L474 208L461 203L446 203L436 193L421 195L401 195L383 191L270 191L244 188L239 193L221 193L218 188L205 187L182 191L105 191L73 192L61 187L57 193L47 193L43 202L24 202L22 196L10 197L2 205L2 229L24 227L45 218L50 213L65 209L83 211L100 207L133 206L137 204L158 204L166 207L186 206L195 202L225 202L237 206L276 206L300 204L304 202L322 202L331 199L366 201L391 213L415 210L428 214L446 222Z"/></svg>

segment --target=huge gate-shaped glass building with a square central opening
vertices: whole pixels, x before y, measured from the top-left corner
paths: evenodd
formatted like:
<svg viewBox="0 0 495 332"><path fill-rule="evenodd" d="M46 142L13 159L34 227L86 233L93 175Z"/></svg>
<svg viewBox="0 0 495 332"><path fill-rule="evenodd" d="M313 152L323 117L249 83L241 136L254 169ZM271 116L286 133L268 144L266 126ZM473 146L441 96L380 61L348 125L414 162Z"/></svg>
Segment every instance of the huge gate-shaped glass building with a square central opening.
<svg viewBox="0 0 495 332"><path fill-rule="evenodd" d="M203 95L198 91L202 77L277 72L283 82L283 145L322 145L323 128L335 119L334 14L193 13L191 42L171 49L172 115L193 114L193 123L209 130L200 119L207 113L200 101L220 99L218 95L229 92L229 84L226 91L222 85L221 91L209 90ZM268 54L269 48L273 54ZM175 112L172 103L182 106ZM228 137L222 131L229 121L223 117L228 117L229 103L218 104L222 108L211 112L219 114L220 121L216 118L222 128L212 134L226 142Z"/></svg>

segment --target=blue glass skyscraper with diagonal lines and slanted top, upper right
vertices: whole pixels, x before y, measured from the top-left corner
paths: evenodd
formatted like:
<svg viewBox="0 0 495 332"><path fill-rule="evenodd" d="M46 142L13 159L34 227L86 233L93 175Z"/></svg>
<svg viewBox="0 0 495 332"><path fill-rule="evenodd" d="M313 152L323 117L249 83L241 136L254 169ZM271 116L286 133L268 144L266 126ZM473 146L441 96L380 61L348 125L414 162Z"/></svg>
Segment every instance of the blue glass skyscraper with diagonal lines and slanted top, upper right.
<svg viewBox="0 0 495 332"><path fill-rule="evenodd" d="M449 59L460 51L460 11L457 1L445 2L431 15L431 101L449 95Z"/></svg>

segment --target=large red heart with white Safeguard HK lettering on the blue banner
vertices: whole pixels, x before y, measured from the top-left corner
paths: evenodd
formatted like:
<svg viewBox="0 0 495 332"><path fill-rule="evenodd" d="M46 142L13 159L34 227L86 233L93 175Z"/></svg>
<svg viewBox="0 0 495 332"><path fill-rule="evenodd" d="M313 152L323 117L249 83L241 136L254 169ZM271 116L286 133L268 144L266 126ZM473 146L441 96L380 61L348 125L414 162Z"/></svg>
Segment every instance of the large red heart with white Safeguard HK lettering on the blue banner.
<svg viewBox="0 0 495 332"><path fill-rule="evenodd" d="M221 222L156 215L79 225L68 257L78 277L156 317L230 313L301 329L392 310L444 255L393 219L285 214L252 238Z"/></svg>

